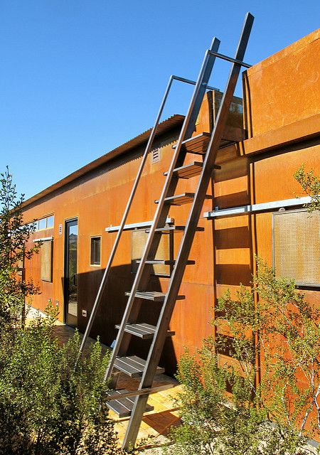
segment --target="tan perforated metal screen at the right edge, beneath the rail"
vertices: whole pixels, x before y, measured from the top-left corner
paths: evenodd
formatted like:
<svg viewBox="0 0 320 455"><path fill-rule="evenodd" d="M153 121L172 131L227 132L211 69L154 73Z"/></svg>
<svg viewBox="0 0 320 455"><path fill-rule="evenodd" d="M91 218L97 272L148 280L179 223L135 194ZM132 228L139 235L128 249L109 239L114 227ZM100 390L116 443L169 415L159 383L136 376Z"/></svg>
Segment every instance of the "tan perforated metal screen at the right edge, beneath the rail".
<svg viewBox="0 0 320 455"><path fill-rule="evenodd" d="M273 215L276 276L297 284L320 284L320 212L306 210Z"/></svg>

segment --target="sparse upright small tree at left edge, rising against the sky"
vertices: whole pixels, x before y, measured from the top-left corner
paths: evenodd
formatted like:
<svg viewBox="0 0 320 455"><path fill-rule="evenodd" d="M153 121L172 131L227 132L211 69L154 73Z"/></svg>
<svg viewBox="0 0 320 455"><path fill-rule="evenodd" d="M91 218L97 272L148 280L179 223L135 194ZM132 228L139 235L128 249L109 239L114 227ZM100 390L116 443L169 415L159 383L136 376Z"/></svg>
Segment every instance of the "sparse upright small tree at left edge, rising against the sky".
<svg viewBox="0 0 320 455"><path fill-rule="evenodd" d="M0 323L10 326L24 324L25 299L38 293L31 280L17 279L19 265L38 252L38 246L26 248L35 228L23 224L23 200L6 168L0 178Z"/></svg>

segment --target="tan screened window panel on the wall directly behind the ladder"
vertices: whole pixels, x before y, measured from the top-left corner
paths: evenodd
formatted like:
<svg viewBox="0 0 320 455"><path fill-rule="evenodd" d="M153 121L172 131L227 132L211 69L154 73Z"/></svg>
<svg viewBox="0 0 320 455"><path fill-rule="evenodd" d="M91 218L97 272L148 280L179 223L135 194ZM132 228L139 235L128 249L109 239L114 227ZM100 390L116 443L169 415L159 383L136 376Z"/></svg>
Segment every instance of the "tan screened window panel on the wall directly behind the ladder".
<svg viewBox="0 0 320 455"><path fill-rule="evenodd" d="M148 232L145 229L137 229L132 231L132 272L136 273L139 267L137 262L142 257L144 251L144 245L146 245L146 240L148 238ZM171 232L165 232L161 235L161 240L159 242L159 247L156 252L155 259L159 260L171 260L173 257L173 235ZM160 264L154 265L153 274L161 275L164 277L169 277L171 274L172 265L169 264Z"/></svg>

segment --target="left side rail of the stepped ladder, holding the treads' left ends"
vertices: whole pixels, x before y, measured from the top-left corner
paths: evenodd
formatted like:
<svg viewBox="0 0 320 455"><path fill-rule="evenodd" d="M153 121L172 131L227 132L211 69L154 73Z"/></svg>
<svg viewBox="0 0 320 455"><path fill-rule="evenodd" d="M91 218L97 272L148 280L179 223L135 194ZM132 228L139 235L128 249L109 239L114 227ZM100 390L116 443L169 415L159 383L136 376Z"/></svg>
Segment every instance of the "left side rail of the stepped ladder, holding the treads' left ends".
<svg viewBox="0 0 320 455"><path fill-rule="evenodd" d="M210 50L214 50L214 51L218 50L219 45L220 45L220 41L218 40L218 38L213 38L213 41L212 41L211 46L210 46ZM168 189L170 187L171 178L172 178L173 173L174 173L174 168L175 168L175 165L176 165L176 161L178 160L178 156L179 156L180 151L181 151L182 142L183 142L183 140L186 137L190 137L191 136L191 134L193 132L194 124L196 124L196 118L198 117L198 112L199 112L200 107L201 107L201 102L202 102L203 96L204 96L204 94L206 92L206 86L208 84L208 80L209 80L210 75L211 75L213 64L215 62L215 56L214 55L210 55L210 50L206 51L205 57L203 59L203 64L201 66L201 70L200 70L200 73L198 75L198 80L197 80L196 86L195 86L195 88L193 90L193 95L191 97L191 102L190 102L190 105L188 107L188 113L186 114L186 117L184 119L184 122L183 122L183 125L182 125L182 128L181 128L181 132L180 132L179 137L178 137L178 142L176 144L176 149L174 151L174 156L173 156L173 159L171 161L171 165L170 165L170 168L169 168L169 171L168 171L168 175L166 176L166 181L164 183L164 187L163 187L163 189L161 191L161 196L159 198L159 204L158 204L158 207L156 208L156 213L154 215L154 220L152 222L152 225L151 225L151 228L150 228L150 231L149 231L149 235L148 235L148 238L146 240L146 245L144 246L144 252L143 252L143 255L142 255L142 259L141 259L141 262L139 264L139 267L138 267L138 270L137 270L137 274L136 274L136 277L134 279L134 283L132 285L132 290L130 292L129 299L127 301L127 306L126 306L126 309L124 311L124 315L122 317L122 322L121 322L121 325L119 327L119 331L117 333L117 339L116 339L114 348L112 350L110 363L109 363L109 366L108 366L107 371L105 373L105 380L110 378L110 376L112 374L113 366L114 366L114 361L117 358L117 355L119 353L120 341L122 340L122 337L124 335L125 326L126 326L128 320L129 320L130 312L132 311L132 306L134 304L135 294L136 294L136 292L138 290L138 287L139 287L139 284L140 284L140 280L141 280L142 274L144 272L145 262L146 262L146 259L147 259L148 255L149 255L149 250L151 249L152 241L154 240L154 232L155 232L157 226L159 225L159 220L161 218L162 208L164 206L164 199L166 198L166 194L168 193ZM165 214L165 217L166 217L166 214ZM150 267L149 267L149 269L150 269Z"/></svg>

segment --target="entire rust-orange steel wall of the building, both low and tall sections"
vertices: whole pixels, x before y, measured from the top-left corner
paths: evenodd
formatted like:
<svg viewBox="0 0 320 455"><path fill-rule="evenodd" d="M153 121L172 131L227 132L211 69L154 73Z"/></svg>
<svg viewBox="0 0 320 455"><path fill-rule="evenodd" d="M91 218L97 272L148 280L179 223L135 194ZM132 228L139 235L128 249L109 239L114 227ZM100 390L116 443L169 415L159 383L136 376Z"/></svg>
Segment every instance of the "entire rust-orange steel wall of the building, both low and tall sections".
<svg viewBox="0 0 320 455"><path fill-rule="evenodd" d="M319 84L319 31L272 55L247 70L243 78L245 129L248 139L224 147L218 153L216 170L208 188L214 189L215 199L206 200L203 212L214 207L230 208L250 203L270 202L294 198L301 194L293 173L302 163L320 173L320 84ZM196 131L208 132L215 117L216 95L210 92L203 102ZM233 124L233 119L230 118ZM148 160L142 182L129 214L127 223L151 220L164 183L164 171L169 168L172 145L178 130L174 127L156 139L161 149L161 161ZM115 233L105 232L110 225L119 225L129 191L142 156L142 145L124 148L121 156L112 161L87 168L68 184L57 185L42 198L26 203L25 220L42 218L54 213L53 230L41 232L41 237L53 235L53 282L41 282L39 257L26 264L27 277L32 276L42 289L33 298L33 306L44 309L48 299L58 301L60 319L63 318L63 257L64 235L58 226L65 220L78 218L78 326L85 328L86 318L95 299ZM194 157L190 157L190 160ZM99 161L100 163L100 161ZM181 181L177 194L192 191L194 182ZM188 207L172 207L171 218L176 224L186 220ZM201 219L203 232L197 232L190 259L196 265L188 266L181 285L186 300L177 301L170 328L176 331L166 344L162 365L169 373L176 368L176 360L183 347L195 349L203 337L211 333L211 312L215 299L226 289L235 291L238 285L249 285L255 272L256 254L272 262L272 213L242 215L218 220ZM34 237L40 237L36 232ZM102 267L90 266L90 237L102 237ZM181 233L174 234L174 250ZM106 292L93 335L100 334L110 344L116 334L126 304L124 291L130 289L131 232L124 232L119 252L114 260L111 286ZM154 277L156 287L166 290L168 278ZM310 299L319 300L318 289L306 291ZM144 321L152 323L156 312L154 303L144 302ZM144 342L146 343L146 342ZM145 346L139 345L143 357ZM136 351L137 353L137 351Z"/></svg>

